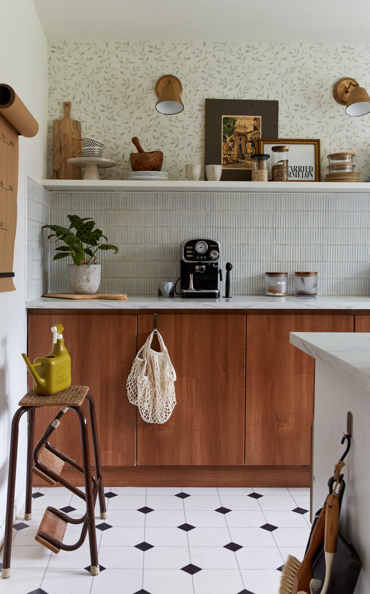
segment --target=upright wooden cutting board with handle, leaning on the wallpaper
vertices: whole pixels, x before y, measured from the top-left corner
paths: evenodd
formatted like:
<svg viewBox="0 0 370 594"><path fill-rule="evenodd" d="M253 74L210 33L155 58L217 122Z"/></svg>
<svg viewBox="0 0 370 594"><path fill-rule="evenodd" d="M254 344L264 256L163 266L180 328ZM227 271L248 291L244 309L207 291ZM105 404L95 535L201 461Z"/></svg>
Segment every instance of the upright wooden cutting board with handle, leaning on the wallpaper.
<svg viewBox="0 0 370 594"><path fill-rule="evenodd" d="M70 118L69 101L63 105L64 118L56 119L53 127L53 179L81 179L81 168L67 163L78 151L75 143L81 138L81 122Z"/></svg>

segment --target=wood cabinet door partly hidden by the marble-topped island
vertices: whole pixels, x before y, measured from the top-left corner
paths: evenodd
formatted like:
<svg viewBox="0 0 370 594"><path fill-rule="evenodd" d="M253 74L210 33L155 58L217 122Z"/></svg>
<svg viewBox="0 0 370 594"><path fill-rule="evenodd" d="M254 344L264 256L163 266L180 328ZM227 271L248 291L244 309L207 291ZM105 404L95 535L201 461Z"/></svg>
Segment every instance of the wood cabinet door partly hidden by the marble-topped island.
<svg viewBox="0 0 370 594"><path fill-rule="evenodd" d="M290 332L353 332L353 316L247 316L246 465L311 462L315 363Z"/></svg>

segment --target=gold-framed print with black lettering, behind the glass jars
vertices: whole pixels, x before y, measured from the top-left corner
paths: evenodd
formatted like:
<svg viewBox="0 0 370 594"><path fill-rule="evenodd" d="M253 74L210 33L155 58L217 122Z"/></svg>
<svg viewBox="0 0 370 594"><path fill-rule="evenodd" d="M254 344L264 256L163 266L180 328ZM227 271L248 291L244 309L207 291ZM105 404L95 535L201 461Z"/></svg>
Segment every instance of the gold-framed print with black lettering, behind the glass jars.
<svg viewBox="0 0 370 594"><path fill-rule="evenodd" d="M320 182L321 159L319 138L260 138L258 153L268 153L271 157L271 147L277 144L289 146L289 181L290 182ZM294 153L294 146L307 146L307 151ZM292 147L291 147L292 146ZM312 149L314 149L312 151ZM311 169L312 168L312 169ZM271 159L269 166L271 179Z"/></svg>

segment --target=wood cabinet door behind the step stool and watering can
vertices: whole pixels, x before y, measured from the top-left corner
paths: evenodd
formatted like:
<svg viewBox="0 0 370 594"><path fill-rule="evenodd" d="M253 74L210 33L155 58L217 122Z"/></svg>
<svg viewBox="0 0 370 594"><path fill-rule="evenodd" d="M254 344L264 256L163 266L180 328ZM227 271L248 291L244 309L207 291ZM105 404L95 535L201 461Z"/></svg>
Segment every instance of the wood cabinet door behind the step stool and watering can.
<svg viewBox="0 0 370 594"><path fill-rule="evenodd" d="M50 328L56 322L61 322L65 328L63 334L71 355L72 384L89 386L94 398L102 465L134 466L136 409L128 402L126 382L136 355L137 317L88 312L74 314L65 310L53 314L29 314L31 361L50 352ZM58 412L57 408L50 408L36 409L36 440ZM83 408L87 415L86 402ZM80 428L74 412L66 413L50 441L77 462L81 461Z"/></svg>

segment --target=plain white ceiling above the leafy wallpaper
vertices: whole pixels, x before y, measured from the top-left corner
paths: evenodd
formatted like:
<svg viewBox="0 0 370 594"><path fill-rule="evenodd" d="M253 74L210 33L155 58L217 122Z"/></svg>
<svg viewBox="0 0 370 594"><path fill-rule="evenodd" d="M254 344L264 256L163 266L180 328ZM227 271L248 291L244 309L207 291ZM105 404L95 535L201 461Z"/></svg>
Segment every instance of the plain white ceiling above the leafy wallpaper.
<svg viewBox="0 0 370 594"><path fill-rule="evenodd" d="M34 0L48 39L370 43L369 0Z"/></svg>

